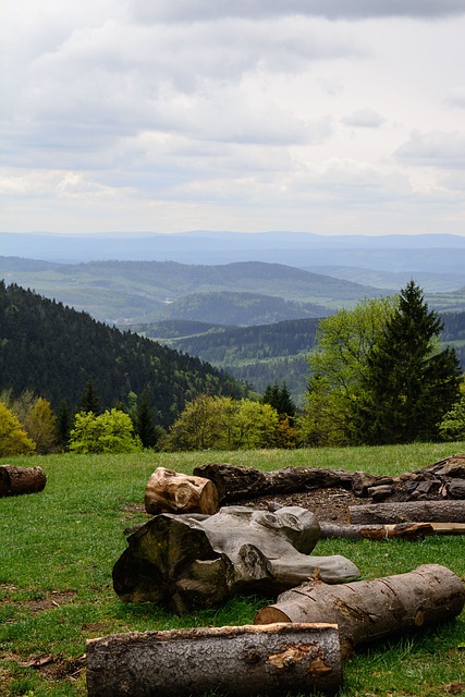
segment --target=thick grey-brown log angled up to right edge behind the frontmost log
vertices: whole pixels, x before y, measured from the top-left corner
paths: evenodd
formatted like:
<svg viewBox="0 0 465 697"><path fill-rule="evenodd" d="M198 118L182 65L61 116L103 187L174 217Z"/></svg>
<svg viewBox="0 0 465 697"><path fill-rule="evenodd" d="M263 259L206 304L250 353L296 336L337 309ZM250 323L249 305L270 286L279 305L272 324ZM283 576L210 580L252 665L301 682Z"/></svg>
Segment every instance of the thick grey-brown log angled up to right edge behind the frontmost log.
<svg viewBox="0 0 465 697"><path fill-rule="evenodd" d="M432 625L458 615L465 603L463 582L438 564L374 580L338 586L303 584L262 608L256 624L326 622L338 624L341 650L390 637L406 629Z"/></svg>

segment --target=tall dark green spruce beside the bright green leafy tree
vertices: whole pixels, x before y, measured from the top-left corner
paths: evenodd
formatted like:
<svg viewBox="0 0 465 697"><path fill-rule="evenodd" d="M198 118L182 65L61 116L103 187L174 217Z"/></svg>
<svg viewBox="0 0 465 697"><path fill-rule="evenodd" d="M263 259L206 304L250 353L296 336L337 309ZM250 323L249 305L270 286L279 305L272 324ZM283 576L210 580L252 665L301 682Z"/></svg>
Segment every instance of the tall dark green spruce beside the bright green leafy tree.
<svg viewBox="0 0 465 697"><path fill-rule="evenodd" d="M368 444L433 440L458 399L460 362L439 350L438 314L414 281L401 291L384 331L367 355L355 402L356 441Z"/></svg>

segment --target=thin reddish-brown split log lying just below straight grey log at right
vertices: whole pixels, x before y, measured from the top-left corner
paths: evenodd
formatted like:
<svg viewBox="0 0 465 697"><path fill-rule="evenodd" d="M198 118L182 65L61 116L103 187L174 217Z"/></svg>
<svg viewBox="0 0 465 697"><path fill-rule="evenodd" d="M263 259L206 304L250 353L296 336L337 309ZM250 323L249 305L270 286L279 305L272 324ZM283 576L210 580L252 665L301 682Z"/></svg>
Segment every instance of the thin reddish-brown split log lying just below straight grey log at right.
<svg viewBox="0 0 465 697"><path fill-rule="evenodd" d="M396 525L336 525L320 521L321 539L346 537L354 540L384 540L393 537L416 539L433 535L437 530L432 523L399 523ZM445 534L445 529L442 534ZM465 525L463 526L465 533ZM456 534L457 530L454 529Z"/></svg>

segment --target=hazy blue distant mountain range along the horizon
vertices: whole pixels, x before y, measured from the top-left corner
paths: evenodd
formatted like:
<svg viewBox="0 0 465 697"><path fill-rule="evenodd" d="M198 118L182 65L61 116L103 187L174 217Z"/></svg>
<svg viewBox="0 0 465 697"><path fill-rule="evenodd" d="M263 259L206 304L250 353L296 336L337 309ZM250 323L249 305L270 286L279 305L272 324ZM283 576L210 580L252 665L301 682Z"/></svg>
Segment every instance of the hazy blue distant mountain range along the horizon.
<svg viewBox="0 0 465 697"><path fill-rule="evenodd" d="M465 237L317 235L296 232L58 235L0 233L0 254L60 264L95 260L224 265L266 261L399 290L415 278L426 292L465 285ZM354 276L356 274L356 278Z"/></svg>

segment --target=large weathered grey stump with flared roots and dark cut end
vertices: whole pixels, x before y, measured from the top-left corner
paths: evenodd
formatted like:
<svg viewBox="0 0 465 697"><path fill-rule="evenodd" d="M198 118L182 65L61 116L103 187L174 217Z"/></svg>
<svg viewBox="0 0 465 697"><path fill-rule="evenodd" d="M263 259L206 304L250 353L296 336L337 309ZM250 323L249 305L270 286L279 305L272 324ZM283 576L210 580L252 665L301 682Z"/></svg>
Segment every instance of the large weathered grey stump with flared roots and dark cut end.
<svg viewBox="0 0 465 697"><path fill-rule="evenodd" d="M358 577L345 557L310 555L319 535L316 516L298 506L276 513L230 506L211 516L164 513L127 538L113 587L123 601L150 601L181 613L233 592L276 596L315 574L327 583Z"/></svg>

